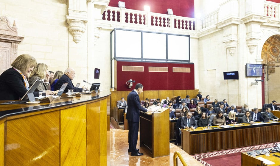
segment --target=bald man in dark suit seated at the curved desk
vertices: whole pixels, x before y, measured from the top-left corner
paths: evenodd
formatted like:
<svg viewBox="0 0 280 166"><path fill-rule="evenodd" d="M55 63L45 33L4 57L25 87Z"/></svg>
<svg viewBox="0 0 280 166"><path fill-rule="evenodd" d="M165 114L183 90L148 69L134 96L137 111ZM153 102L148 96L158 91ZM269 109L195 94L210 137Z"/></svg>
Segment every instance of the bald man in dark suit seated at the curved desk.
<svg viewBox="0 0 280 166"><path fill-rule="evenodd" d="M68 85L67 87L65 88L64 90L64 93L67 93L68 92L68 89L73 89L74 92L82 92L83 89L85 89L85 87L81 87L81 88L78 88L78 87L75 87L72 80L74 79L75 77L75 71L74 69L72 68L67 68L65 71L64 71L64 74L60 77L60 79L58 79L58 81L56 82L55 84L55 90L59 90L62 86L62 84L64 82L68 82Z"/></svg>

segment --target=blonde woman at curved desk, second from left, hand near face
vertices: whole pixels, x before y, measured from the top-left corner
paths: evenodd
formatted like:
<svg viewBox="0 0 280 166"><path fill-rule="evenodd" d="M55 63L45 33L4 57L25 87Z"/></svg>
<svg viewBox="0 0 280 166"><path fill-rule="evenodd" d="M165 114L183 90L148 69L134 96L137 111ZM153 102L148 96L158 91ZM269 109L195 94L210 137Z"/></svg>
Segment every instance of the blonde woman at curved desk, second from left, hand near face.
<svg viewBox="0 0 280 166"><path fill-rule="evenodd" d="M36 80L42 80L42 82L38 85L38 87L35 89L35 91L44 91L46 92L46 95L54 95L55 92L48 90L49 87L49 75L48 73L48 66L44 63L38 63L34 70L31 72L29 77L29 85L34 84Z"/></svg>

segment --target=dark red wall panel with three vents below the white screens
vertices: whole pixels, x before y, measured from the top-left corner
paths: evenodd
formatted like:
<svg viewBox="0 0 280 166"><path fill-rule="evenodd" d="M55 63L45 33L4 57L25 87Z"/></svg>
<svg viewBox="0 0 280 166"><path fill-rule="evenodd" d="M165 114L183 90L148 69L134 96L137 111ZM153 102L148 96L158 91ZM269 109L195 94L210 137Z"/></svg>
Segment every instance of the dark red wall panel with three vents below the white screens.
<svg viewBox="0 0 280 166"><path fill-rule="evenodd" d="M144 72L122 71L122 66L144 66ZM149 67L168 67L168 72L149 72ZM173 73L172 68L190 68L190 73ZM133 90L137 83L144 85L144 90L188 90L195 89L194 64L125 62L117 61L117 90ZM126 85L132 79L131 88Z"/></svg>

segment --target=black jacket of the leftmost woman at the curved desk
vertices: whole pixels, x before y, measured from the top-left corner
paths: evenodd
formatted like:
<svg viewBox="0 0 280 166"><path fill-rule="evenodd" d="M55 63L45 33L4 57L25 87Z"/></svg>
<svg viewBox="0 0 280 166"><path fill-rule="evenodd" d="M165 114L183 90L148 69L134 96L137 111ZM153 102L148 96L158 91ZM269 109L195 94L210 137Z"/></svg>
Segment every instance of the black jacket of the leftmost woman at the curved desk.
<svg viewBox="0 0 280 166"><path fill-rule="evenodd" d="M15 69L9 68L0 75L0 100L18 100L26 92L24 79ZM38 96L38 92L33 94L35 97Z"/></svg>

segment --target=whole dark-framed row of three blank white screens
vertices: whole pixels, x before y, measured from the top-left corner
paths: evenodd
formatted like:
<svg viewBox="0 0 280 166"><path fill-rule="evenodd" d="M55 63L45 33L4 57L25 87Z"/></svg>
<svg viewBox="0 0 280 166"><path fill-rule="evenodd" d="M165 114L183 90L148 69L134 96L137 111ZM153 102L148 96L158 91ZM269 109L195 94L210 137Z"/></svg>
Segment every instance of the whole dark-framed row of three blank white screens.
<svg viewBox="0 0 280 166"><path fill-rule="evenodd" d="M111 59L190 61L190 36L115 28Z"/></svg>

